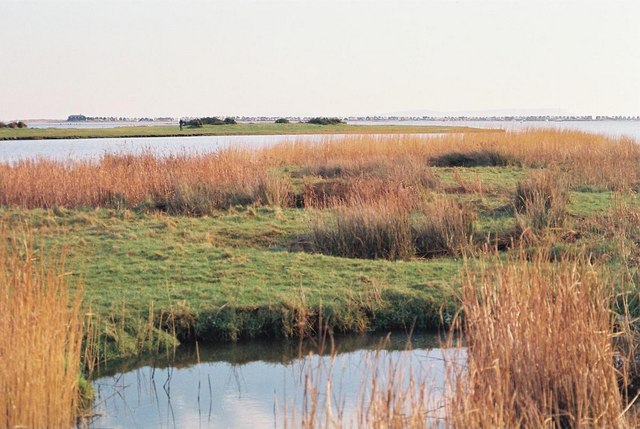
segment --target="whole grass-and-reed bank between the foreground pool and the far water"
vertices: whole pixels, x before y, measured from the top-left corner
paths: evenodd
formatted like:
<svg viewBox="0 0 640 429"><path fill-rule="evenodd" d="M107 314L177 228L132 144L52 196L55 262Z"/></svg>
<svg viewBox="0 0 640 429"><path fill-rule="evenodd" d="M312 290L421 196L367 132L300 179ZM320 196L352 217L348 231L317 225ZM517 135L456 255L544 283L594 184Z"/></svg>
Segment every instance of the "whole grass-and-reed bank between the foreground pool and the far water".
<svg viewBox="0 0 640 429"><path fill-rule="evenodd" d="M437 328L486 245L634 267L638 165L632 141L565 131L24 161L0 165L1 219L67 248L116 356L320 321Z"/></svg>

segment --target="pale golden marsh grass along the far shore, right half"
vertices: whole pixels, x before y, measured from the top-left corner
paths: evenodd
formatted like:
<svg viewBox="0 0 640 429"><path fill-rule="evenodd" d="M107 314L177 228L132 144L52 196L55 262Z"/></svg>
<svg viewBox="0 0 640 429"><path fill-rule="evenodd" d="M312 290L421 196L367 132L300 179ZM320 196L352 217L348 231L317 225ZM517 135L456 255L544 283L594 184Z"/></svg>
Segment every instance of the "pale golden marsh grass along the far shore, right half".
<svg viewBox="0 0 640 429"><path fill-rule="evenodd" d="M410 158L434 166L556 167L570 174L574 186L601 189L636 189L640 183L640 147L633 139L566 130L428 138L346 136L316 144L283 143L262 149L259 156L282 165L303 165L310 171L337 163L345 169L349 164L394 163Z"/></svg>

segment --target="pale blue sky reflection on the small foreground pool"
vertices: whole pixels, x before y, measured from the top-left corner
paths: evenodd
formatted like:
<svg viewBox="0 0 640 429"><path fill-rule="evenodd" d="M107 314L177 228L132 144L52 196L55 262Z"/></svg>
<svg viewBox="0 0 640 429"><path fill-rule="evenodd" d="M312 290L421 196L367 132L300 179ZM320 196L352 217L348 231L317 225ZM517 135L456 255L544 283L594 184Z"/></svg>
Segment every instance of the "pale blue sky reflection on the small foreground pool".
<svg viewBox="0 0 640 429"><path fill-rule="evenodd" d="M460 350L439 348L435 336L403 335L382 347L379 336L336 341L334 360L309 354L313 344L250 342L181 350L175 360L125 362L107 368L94 382L100 416L93 428L274 428L299 409L308 370L331 371L334 405L346 416L376 371L400 365L433 388L444 385L445 356ZM380 349L378 355L374 351ZM302 356L302 357L298 357ZM322 378L322 377L321 377ZM408 389L408 380L405 380ZM321 383L322 384L322 383ZM320 395L324 394L320 386Z"/></svg>

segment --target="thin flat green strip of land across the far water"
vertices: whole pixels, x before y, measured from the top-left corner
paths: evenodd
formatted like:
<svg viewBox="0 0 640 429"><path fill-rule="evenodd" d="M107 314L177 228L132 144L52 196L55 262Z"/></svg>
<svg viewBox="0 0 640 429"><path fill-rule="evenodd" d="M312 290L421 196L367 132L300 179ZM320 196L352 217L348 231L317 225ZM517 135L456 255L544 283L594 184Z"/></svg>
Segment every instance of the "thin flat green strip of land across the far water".
<svg viewBox="0 0 640 429"><path fill-rule="evenodd" d="M0 140L41 140L107 137L183 137L236 135L297 135L297 134L433 134L487 132L470 127L417 125L316 125L307 123L251 123L236 125L205 125L202 128L175 126L117 128L3 128ZM493 132L500 132L493 130Z"/></svg>

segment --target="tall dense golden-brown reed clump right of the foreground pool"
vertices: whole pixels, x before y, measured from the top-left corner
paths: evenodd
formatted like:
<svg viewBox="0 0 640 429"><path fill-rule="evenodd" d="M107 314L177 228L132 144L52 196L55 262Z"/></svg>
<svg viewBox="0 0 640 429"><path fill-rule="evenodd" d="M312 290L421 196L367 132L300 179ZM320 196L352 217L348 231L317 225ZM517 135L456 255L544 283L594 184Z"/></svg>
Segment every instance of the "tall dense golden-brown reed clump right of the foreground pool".
<svg viewBox="0 0 640 429"><path fill-rule="evenodd" d="M466 275L467 366L454 372L448 426L630 427L615 366L612 281L584 260L529 259Z"/></svg>

